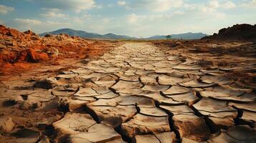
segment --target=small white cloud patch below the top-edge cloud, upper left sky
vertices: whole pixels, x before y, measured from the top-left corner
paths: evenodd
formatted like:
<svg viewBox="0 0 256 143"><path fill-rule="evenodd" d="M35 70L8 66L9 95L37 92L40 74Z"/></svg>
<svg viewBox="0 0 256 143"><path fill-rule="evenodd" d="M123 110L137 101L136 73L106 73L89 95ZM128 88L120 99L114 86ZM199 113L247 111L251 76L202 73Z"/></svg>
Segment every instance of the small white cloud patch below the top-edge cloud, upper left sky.
<svg viewBox="0 0 256 143"><path fill-rule="evenodd" d="M41 16L44 16L46 18L62 18L62 19L67 19L69 17L67 14L62 14L60 9L47 9L47 8L42 8L44 11L43 14L40 14Z"/></svg>

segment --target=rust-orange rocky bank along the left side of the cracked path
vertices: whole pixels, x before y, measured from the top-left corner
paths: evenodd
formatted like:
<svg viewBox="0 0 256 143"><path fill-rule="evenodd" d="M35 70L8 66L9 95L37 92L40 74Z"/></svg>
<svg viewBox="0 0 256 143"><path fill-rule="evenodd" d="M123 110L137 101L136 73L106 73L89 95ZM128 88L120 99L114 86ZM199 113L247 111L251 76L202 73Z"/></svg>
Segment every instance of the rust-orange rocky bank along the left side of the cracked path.
<svg viewBox="0 0 256 143"><path fill-rule="evenodd" d="M98 45L105 47L103 42L89 42L77 36L60 34L39 37L30 30L20 32L1 25L0 74L10 73L8 69L29 69L32 67L30 63L55 64L58 59L93 56L99 53Z"/></svg>

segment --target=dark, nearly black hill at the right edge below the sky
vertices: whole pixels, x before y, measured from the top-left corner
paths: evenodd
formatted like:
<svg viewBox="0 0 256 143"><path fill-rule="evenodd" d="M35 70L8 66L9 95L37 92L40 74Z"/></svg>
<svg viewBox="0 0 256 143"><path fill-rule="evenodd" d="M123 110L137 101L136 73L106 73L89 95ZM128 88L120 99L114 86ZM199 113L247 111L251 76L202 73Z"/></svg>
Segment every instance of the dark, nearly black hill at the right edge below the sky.
<svg viewBox="0 0 256 143"><path fill-rule="evenodd" d="M256 40L256 24L236 24L232 27L220 29L218 34L206 36L202 39L215 40Z"/></svg>

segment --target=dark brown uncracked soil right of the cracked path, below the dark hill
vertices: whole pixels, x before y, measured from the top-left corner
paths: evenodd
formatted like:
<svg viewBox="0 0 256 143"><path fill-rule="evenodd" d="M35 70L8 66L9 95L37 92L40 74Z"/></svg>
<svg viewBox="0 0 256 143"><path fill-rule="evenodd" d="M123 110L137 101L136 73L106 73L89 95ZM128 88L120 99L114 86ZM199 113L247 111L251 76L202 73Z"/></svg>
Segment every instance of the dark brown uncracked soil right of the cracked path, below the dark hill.
<svg viewBox="0 0 256 143"><path fill-rule="evenodd" d="M151 43L170 49L168 54L195 60L205 69L222 69L237 82L256 87L256 41L165 40Z"/></svg>

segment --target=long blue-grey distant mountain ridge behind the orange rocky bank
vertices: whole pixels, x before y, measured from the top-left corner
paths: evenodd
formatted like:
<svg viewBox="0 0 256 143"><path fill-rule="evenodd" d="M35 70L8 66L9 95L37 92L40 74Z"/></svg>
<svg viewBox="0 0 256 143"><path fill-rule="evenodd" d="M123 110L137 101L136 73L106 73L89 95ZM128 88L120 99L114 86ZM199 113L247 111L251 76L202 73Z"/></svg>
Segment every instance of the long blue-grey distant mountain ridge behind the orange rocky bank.
<svg viewBox="0 0 256 143"><path fill-rule="evenodd" d="M91 38L91 39L136 39L136 37L125 36L125 35L116 35L111 33L101 35L101 34L95 34L87 31L80 31L80 30L74 30L74 29L59 29L56 31L49 31L49 32L39 34L39 36L44 36L46 34L52 34L52 35L68 34L70 36L80 36L83 38Z"/></svg>

